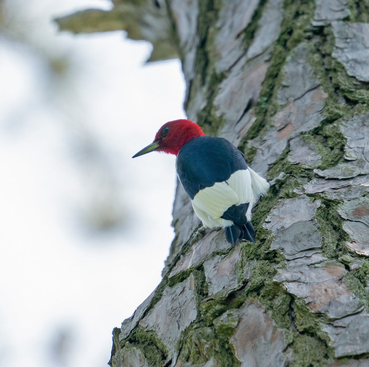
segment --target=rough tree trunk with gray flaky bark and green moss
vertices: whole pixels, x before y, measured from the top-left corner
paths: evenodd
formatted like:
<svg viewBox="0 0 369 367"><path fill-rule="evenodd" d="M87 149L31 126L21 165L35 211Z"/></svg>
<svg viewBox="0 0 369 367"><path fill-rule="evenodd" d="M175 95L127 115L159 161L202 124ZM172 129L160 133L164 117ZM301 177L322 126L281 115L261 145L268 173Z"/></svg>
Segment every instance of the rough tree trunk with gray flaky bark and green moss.
<svg viewBox="0 0 369 367"><path fill-rule="evenodd" d="M188 118L271 188L256 243L232 248L222 229L190 244L177 184L162 282L114 329L111 366L369 366L369 3L114 3L58 22L179 55Z"/></svg>

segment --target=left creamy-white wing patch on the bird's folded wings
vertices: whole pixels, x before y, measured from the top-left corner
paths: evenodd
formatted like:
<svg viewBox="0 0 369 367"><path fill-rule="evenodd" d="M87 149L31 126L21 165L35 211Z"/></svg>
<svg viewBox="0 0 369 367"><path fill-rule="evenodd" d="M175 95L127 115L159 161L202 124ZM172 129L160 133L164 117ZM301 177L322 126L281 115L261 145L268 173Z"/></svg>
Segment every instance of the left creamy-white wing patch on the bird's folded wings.
<svg viewBox="0 0 369 367"><path fill-rule="evenodd" d="M215 182L213 186L200 190L193 198L193 203L212 219L220 218L237 202L237 193L226 182Z"/></svg>

